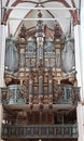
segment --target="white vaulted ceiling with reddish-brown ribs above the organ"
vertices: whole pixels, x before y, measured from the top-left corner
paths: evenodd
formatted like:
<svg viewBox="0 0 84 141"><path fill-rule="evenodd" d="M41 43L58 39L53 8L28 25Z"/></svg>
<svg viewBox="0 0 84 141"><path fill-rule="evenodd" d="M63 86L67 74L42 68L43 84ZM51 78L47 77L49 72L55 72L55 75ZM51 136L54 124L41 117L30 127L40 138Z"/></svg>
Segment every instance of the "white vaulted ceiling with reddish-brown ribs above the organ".
<svg viewBox="0 0 84 141"><path fill-rule="evenodd" d="M17 35L20 26L32 28L37 25L41 11L43 24L52 29L59 23L64 34L80 21L81 0L2 0L2 23L8 24L8 33Z"/></svg>

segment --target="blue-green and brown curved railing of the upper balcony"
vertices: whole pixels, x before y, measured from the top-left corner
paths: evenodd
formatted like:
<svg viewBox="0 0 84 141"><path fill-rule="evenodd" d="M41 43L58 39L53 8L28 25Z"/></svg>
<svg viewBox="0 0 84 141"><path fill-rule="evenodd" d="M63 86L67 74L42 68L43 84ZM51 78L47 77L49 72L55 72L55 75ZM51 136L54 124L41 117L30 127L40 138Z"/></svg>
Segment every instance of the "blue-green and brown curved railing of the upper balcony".
<svg viewBox="0 0 84 141"><path fill-rule="evenodd" d="M12 85L8 88L2 88L2 103L5 104L29 104L29 94L20 93L19 85ZM54 88L52 97L50 94L44 94L41 98L43 104L74 104L76 105L80 101L80 88L72 87L70 85L57 85ZM32 104L39 104L39 94L31 95Z"/></svg>

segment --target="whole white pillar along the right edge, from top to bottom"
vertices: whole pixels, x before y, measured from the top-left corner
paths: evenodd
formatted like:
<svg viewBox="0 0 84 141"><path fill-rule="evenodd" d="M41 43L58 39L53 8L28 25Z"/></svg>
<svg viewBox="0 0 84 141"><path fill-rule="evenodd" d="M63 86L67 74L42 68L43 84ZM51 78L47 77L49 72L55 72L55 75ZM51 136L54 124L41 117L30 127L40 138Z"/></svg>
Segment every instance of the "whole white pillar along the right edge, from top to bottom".
<svg viewBox="0 0 84 141"><path fill-rule="evenodd" d="M76 46L76 70L78 86L81 87L81 101L84 103L84 1L81 1L81 25L74 27ZM79 138L78 141L84 141L84 105L80 103L76 107Z"/></svg>

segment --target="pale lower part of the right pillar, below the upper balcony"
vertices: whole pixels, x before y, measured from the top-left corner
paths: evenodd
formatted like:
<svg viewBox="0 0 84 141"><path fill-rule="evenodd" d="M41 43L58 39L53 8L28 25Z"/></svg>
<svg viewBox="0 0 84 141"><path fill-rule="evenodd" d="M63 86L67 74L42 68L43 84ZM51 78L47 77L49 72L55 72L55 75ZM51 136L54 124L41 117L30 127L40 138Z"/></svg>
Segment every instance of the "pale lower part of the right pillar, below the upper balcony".
<svg viewBox="0 0 84 141"><path fill-rule="evenodd" d="M78 129L79 129L78 141L84 141L84 106L81 103L78 104L76 116L78 116Z"/></svg>

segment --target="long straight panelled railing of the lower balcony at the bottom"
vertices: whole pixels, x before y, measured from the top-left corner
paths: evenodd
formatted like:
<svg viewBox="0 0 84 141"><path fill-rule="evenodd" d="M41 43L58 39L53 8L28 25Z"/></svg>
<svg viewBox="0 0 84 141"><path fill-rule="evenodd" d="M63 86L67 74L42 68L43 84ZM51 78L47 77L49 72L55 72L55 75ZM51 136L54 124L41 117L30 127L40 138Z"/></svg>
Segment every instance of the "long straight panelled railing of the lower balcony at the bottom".
<svg viewBox="0 0 84 141"><path fill-rule="evenodd" d="M2 138L78 138L78 125L2 125Z"/></svg>

